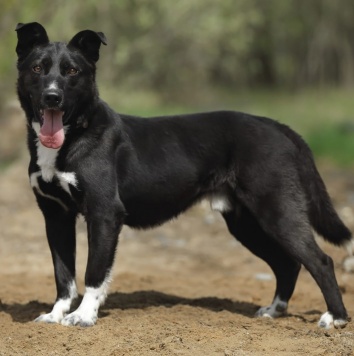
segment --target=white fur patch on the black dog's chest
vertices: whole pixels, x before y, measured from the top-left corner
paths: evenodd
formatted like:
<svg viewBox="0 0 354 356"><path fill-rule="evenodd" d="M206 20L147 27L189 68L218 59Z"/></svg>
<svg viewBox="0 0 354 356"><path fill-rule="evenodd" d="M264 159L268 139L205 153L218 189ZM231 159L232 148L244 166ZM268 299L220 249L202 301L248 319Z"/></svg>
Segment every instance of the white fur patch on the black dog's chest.
<svg viewBox="0 0 354 356"><path fill-rule="evenodd" d="M58 153L58 149L47 148L38 143L37 165L39 166L39 170L30 175L30 183L38 194L45 198L52 199L64 207L65 204L62 199L60 199L60 196L48 194L41 188L39 183L39 179L41 178L44 183L60 187L70 197L71 188L77 189L78 181L75 172L62 172L57 169L56 161Z"/></svg>

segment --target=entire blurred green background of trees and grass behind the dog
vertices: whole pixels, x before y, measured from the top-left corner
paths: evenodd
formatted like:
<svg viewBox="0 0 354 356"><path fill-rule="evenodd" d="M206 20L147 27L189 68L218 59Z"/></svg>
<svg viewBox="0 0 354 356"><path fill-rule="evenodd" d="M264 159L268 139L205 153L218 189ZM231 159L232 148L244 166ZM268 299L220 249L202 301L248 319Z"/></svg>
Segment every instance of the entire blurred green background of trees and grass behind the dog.
<svg viewBox="0 0 354 356"><path fill-rule="evenodd" d="M0 166L25 141L14 29L31 21L53 41L106 34L97 79L119 112L247 111L289 124L318 159L354 165L353 0L0 0L0 8Z"/></svg>

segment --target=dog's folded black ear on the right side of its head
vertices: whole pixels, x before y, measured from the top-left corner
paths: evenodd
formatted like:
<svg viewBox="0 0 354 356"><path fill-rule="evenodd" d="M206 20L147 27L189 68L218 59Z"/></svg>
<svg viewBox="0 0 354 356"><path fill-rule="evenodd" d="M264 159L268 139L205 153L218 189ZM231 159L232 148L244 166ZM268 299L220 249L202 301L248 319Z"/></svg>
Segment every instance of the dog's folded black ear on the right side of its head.
<svg viewBox="0 0 354 356"><path fill-rule="evenodd" d="M102 32L84 30L77 33L68 44L70 49L78 49L84 56L97 62L100 56L101 43L107 44L106 36Z"/></svg>

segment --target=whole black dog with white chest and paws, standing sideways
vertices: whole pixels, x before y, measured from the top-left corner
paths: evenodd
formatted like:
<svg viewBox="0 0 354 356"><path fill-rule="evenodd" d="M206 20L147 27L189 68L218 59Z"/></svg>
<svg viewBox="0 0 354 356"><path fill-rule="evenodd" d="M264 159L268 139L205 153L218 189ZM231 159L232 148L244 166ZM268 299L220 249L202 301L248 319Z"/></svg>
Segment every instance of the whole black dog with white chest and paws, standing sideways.
<svg viewBox="0 0 354 356"><path fill-rule="evenodd" d="M304 141L287 126L219 111L143 119L120 115L98 97L95 62L103 33L79 32L50 42L38 23L19 24L18 96L27 115L30 182L43 212L57 299L36 321L90 326L106 298L123 224L149 228L201 199L229 231L275 273L272 304L258 316L287 310L300 266L321 288L322 327L349 320L332 259L311 228L341 245L351 241ZM77 310L75 221L87 221L86 291Z"/></svg>

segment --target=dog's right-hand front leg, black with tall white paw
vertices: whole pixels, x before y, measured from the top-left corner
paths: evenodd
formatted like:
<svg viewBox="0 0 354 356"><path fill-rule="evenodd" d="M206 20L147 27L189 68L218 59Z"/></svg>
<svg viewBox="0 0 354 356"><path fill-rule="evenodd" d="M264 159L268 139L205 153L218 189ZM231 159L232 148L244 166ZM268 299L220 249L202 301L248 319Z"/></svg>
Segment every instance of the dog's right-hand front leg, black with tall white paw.
<svg viewBox="0 0 354 356"><path fill-rule="evenodd" d="M85 294L77 310L67 315L63 325L92 326L107 296L111 268L124 213L104 213L87 218L89 254L85 275Z"/></svg>

